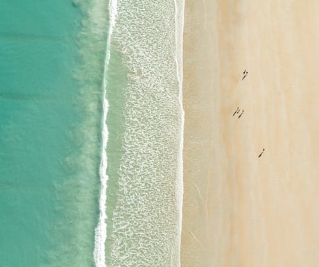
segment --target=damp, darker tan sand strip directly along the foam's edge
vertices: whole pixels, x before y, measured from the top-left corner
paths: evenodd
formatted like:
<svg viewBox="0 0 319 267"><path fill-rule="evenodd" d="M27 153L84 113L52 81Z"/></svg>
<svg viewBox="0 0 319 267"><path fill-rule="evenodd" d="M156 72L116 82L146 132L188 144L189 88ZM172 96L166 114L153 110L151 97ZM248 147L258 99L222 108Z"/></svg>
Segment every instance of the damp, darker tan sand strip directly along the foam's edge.
<svg viewBox="0 0 319 267"><path fill-rule="evenodd" d="M216 3L185 1L184 12L184 202L182 220L182 267L214 266L214 234L212 192L220 185L211 177L221 177L212 164L212 158L224 150L219 118L217 35L214 28ZM218 125L212 125L212 121ZM216 160L215 165L222 159ZM221 163L222 164L222 163ZM219 169L219 168L218 168ZM223 170L221 170L223 173ZM217 189L216 189L217 188ZM216 193L218 196L219 193ZM202 228L202 229L200 229Z"/></svg>

